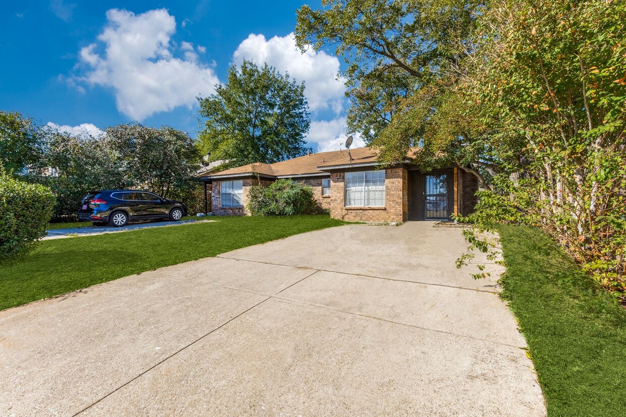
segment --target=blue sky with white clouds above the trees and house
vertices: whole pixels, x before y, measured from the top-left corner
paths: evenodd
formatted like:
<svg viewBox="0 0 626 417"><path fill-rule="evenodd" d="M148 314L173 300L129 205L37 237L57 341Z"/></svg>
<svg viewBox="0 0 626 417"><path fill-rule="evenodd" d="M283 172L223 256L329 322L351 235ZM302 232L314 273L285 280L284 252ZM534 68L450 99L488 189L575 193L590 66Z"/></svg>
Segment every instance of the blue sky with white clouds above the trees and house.
<svg viewBox="0 0 626 417"><path fill-rule="evenodd" d="M74 132L141 121L195 136L195 97L211 94L228 67L245 58L305 81L307 140L319 151L339 149L346 137L347 102L336 78L342 59L295 49L291 34L302 4L11 2L0 17L0 109Z"/></svg>

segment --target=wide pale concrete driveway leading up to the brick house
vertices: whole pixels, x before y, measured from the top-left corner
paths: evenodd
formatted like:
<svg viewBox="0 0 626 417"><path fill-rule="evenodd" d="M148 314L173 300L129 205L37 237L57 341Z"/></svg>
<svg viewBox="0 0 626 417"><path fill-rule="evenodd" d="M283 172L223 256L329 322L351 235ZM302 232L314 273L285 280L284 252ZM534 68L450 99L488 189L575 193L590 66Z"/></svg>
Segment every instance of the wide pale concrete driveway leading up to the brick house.
<svg viewBox="0 0 626 417"><path fill-rule="evenodd" d="M545 416L466 246L355 224L2 311L0 415Z"/></svg>

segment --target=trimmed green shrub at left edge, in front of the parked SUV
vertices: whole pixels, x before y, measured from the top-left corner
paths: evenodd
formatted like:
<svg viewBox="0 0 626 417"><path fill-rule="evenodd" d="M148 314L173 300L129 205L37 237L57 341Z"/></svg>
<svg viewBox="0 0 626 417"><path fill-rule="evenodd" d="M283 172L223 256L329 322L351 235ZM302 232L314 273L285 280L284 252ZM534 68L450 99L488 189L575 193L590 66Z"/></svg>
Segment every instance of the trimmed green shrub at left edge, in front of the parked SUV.
<svg viewBox="0 0 626 417"><path fill-rule="evenodd" d="M32 249L46 235L53 206L49 188L0 173L0 258Z"/></svg>

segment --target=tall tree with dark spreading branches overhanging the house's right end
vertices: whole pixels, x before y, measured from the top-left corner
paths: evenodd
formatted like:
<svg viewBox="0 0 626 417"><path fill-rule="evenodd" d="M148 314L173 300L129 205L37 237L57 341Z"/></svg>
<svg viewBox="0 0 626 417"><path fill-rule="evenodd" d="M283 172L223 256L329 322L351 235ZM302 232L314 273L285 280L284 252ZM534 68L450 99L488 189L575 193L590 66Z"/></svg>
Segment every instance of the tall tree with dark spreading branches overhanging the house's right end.
<svg viewBox="0 0 626 417"><path fill-rule="evenodd" d="M482 3L324 0L321 10L306 5L298 10L295 37L302 49L331 47L346 60L349 129L381 148L381 159L394 161L423 142L424 123L446 91L439 81L463 58L463 41L475 28ZM416 123L413 131L381 138L402 115Z"/></svg>

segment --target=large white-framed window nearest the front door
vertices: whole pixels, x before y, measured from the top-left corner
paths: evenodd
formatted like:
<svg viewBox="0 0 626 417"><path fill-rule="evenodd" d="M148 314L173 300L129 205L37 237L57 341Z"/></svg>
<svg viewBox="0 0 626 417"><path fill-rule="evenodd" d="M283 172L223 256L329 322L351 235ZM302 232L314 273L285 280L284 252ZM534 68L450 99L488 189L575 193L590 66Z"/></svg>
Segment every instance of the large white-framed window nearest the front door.
<svg viewBox="0 0 626 417"><path fill-rule="evenodd" d="M384 207L385 171L346 173L346 207Z"/></svg>

